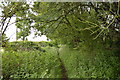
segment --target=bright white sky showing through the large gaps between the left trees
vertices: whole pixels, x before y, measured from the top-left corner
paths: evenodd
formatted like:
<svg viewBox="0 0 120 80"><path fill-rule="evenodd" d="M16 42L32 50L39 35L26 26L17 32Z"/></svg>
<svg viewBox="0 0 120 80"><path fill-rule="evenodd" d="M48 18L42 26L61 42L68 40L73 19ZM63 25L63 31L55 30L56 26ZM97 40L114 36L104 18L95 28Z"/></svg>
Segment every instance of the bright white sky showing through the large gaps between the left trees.
<svg viewBox="0 0 120 80"><path fill-rule="evenodd" d="M13 17L11 19L10 24L13 22L15 22L15 17ZM16 26L15 26L15 24L10 25L7 28L5 34L8 38L11 37L10 42L16 41ZM31 34L27 37L28 41L47 41L47 37L45 35L43 35L41 37L38 36L36 38L33 38L33 37L34 37L34 30L31 31Z"/></svg>

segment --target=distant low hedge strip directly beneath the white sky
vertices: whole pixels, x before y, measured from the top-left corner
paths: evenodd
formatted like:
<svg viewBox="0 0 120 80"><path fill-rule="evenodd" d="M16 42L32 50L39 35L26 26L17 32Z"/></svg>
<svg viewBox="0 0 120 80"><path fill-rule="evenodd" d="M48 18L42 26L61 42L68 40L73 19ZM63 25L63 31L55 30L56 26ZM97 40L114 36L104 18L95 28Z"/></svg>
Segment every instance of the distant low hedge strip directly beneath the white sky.
<svg viewBox="0 0 120 80"><path fill-rule="evenodd" d="M56 44L53 41L46 42L46 41L40 41L40 42L32 42L32 41L14 41L9 43L9 50L13 51L31 51L31 50L38 50L43 51L44 47L55 47Z"/></svg>

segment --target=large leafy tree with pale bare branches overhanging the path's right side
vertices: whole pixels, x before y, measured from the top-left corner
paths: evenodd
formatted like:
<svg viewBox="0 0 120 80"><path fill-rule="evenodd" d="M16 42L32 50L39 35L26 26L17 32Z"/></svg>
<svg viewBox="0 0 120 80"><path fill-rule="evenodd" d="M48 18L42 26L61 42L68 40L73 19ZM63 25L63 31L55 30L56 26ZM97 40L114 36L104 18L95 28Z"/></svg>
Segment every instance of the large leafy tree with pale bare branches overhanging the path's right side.
<svg viewBox="0 0 120 80"><path fill-rule="evenodd" d="M77 45L99 40L119 41L119 2L39 3L31 14L34 27L58 42Z"/></svg>

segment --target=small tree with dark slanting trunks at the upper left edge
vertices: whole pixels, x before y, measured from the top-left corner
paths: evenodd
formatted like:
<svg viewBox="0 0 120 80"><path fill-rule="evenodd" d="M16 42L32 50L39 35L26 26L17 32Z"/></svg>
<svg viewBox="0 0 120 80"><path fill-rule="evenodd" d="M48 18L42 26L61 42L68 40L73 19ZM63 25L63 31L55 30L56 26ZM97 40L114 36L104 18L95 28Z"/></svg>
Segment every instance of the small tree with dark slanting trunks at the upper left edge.
<svg viewBox="0 0 120 80"><path fill-rule="evenodd" d="M13 24L10 24L10 21L12 20L12 17L20 17L23 16L23 14L27 14L27 11L29 9L29 5L22 2L3 2L1 3L1 9L2 9L2 15L1 15L1 31L2 35L5 34L5 31L7 28ZM20 22L18 19L14 22L17 23ZM24 28L25 25L22 25L22 28ZM28 33L28 32L27 32Z"/></svg>

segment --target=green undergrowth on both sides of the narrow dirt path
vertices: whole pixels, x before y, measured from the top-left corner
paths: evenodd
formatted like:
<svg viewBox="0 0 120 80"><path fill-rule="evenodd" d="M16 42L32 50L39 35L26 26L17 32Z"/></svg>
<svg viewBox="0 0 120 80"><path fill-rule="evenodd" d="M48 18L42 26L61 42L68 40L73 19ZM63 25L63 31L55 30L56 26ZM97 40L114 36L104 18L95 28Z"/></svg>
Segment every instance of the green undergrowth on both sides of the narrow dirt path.
<svg viewBox="0 0 120 80"><path fill-rule="evenodd" d="M50 42L10 42L2 54L4 79L62 78L60 59L68 78L120 78L116 50L86 46L80 49Z"/></svg>

